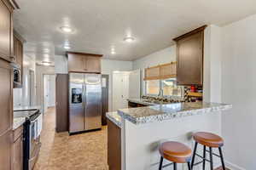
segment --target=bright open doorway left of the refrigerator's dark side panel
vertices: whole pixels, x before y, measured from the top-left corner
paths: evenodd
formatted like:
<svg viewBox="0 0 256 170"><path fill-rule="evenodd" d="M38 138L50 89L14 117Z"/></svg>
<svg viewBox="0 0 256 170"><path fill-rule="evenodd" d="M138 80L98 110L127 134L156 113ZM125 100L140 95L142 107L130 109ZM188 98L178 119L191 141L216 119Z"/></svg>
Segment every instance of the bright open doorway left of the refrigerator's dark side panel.
<svg viewBox="0 0 256 170"><path fill-rule="evenodd" d="M55 75L44 75L44 108L43 112L55 107Z"/></svg>

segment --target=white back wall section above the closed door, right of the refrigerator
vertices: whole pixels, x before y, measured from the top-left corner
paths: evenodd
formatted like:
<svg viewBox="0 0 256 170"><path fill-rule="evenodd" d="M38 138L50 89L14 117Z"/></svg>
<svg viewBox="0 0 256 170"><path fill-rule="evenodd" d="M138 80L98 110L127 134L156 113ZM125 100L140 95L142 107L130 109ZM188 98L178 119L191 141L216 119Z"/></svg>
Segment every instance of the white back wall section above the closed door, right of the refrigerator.
<svg viewBox="0 0 256 170"><path fill-rule="evenodd" d="M102 74L108 75L108 111L113 111L113 71L131 71L132 61L102 59Z"/></svg>

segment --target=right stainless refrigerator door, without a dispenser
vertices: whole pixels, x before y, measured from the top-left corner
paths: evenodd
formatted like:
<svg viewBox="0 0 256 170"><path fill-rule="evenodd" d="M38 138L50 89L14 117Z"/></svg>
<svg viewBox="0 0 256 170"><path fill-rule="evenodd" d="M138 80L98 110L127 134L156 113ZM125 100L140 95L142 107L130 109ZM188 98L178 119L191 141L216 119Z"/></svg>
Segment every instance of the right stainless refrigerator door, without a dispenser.
<svg viewBox="0 0 256 170"><path fill-rule="evenodd" d="M84 130L102 127L102 76L84 74Z"/></svg>

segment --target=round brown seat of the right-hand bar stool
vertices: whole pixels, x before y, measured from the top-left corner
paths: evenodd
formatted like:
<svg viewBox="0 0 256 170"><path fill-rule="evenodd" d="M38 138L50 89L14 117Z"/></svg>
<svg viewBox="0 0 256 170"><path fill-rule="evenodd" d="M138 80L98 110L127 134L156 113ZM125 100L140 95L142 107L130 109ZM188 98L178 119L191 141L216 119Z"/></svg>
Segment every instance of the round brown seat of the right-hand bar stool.
<svg viewBox="0 0 256 170"><path fill-rule="evenodd" d="M194 133L193 138L199 144L203 144L208 147L218 148L223 146L224 144L224 140L217 134L213 134L213 133L205 133L205 132Z"/></svg>

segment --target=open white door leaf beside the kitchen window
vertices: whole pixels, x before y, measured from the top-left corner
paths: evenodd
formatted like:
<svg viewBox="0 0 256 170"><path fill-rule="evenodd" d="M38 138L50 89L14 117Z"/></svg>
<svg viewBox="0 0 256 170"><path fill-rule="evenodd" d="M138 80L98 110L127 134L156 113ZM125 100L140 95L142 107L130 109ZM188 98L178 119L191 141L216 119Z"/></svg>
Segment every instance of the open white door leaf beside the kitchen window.
<svg viewBox="0 0 256 170"><path fill-rule="evenodd" d="M141 71L131 71L129 75L129 98L141 97Z"/></svg>

